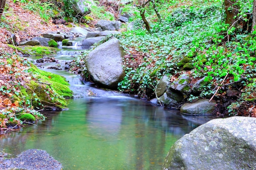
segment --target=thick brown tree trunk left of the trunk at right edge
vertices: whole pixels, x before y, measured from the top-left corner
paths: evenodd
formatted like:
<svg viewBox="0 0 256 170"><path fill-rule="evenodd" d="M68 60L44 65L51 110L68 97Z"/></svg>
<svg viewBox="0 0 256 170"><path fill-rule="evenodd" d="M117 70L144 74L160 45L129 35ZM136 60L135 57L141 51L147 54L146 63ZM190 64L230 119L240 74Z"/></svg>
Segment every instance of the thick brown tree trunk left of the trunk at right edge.
<svg viewBox="0 0 256 170"><path fill-rule="evenodd" d="M237 14L238 14L238 10L240 8L239 5L236 3L237 3L236 0L225 0L225 11L227 14L225 23L229 24L230 26L233 25L235 27L238 24L238 22L236 22L236 21L238 20Z"/></svg>

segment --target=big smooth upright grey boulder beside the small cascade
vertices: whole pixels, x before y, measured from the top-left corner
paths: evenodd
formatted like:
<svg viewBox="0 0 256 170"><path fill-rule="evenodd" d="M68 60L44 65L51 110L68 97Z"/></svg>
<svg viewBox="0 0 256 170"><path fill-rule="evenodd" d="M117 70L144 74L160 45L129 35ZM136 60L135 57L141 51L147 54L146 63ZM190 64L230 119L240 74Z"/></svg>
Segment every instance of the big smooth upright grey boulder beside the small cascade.
<svg viewBox="0 0 256 170"><path fill-rule="evenodd" d="M125 75L123 57L119 40L113 38L92 50L85 58L85 65L95 83L115 88Z"/></svg>

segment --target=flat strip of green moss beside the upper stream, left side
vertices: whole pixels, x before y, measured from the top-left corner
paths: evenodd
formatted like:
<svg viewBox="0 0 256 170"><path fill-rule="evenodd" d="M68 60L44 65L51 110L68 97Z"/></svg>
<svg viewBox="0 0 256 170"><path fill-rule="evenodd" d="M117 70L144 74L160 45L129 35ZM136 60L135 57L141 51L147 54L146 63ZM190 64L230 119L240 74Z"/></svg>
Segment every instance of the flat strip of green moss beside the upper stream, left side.
<svg viewBox="0 0 256 170"><path fill-rule="evenodd" d="M60 49L53 47L45 47L40 45L30 46L30 45L22 45L15 47L14 45L8 44L9 47L16 49L23 54L28 55L53 55L56 54Z"/></svg>

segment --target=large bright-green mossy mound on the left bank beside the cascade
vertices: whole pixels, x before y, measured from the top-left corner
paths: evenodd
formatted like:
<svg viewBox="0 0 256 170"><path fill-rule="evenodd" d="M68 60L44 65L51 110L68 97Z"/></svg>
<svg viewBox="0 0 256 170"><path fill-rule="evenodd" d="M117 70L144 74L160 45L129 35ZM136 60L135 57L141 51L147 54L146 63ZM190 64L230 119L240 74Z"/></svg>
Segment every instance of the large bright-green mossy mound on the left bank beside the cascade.
<svg viewBox="0 0 256 170"><path fill-rule="evenodd" d="M66 98L72 98L73 94L63 76L45 72L35 65L31 65L29 71L36 78L26 83L24 87L20 87L20 95L24 96L23 100L26 104L34 108L50 106L63 109L67 107Z"/></svg>

